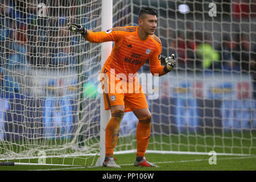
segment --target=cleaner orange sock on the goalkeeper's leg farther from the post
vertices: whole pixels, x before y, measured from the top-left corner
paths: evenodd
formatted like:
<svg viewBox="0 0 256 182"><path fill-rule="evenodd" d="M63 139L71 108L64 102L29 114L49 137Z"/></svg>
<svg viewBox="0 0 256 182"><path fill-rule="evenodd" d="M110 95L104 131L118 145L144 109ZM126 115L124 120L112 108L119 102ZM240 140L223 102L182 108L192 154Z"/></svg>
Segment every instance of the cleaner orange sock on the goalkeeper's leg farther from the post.
<svg viewBox="0 0 256 182"><path fill-rule="evenodd" d="M143 157L147 150L151 130L151 116L139 119L136 139L137 139L137 157Z"/></svg>

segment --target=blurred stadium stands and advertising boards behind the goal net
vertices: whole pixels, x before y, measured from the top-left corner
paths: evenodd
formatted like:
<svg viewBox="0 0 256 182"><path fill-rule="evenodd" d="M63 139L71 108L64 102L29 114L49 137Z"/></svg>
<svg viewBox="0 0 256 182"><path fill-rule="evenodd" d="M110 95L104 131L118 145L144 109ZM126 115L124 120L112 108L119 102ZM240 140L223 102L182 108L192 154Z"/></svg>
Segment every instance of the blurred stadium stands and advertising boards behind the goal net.
<svg viewBox="0 0 256 182"><path fill-rule="evenodd" d="M76 76L80 63L93 65L90 73L83 72L84 77L91 76L89 86L83 82L82 98L89 99L82 105L90 103L91 108L96 108L96 113L100 112L96 104L99 95L94 93L98 85L94 73L100 70L100 64L94 63L100 63L100 57L94 56L88 62L89 54L82 57L82 61L81 56L77 56L77 52L86 52L88 44L84 43L77 50L76 44L82 40L77 36L68 37L68 31L60 28L68 23L65 8L57 10L55 1L42 0L45 4L52 3L49 14L59 17L53 21L38 16L38 9L26 9L24 2L1 1L0 139L58 137L55 130L48 129L51 121L58 123L57 119L64 123L59 126L59 134L72 137L73 127L78 122L76 111L81 107L76 104L76 87L80 84ZM177 56L175 70L160 78L159 98L148 101L153 111L154 131L210 134L230 130L255 131L255 2L214 1L217 5L217 16L214 17L208 14L208 5L212 1L185 1L196 12L193 14L178 13L176 7L181 2L134 0L133 8L127 6L125 11L119 11L125 17L122 21L113 18L113 27L136 25L141 5L158 7L159 27L155 34L162 40L162 55L175 53ZM124 6L129 4L128 1L122 3ZM69 6L69 3L64 3L64 6ZM170 18L167 21L164 17ZM81 23L86 28L98 30L95 28L98 19L89 19L90 23L83 20ZM54 39L56 36L60 37L59 42ZM228 50L230 41L233 47ZM204 64L206 61L201 57L200 45L208 42L209 50L214 51L209 51L209 64ZM65 49L67 46L70 47L68 50ZM144 72L150 73L148 64L140 73ZM44 79L45 75L49 79ZM89 96L86 94L88 88L91 89ZM90 102L91 99L97 102ZM89 107L84 112L86 109ZM88 118L91 122L99 121L100 116L96 113L85 116L84 121L87 122ZM123 135L129 130L135 131L133 115L127 115L122 123L128 120L133 122L121 127ZM25 121L27 127L20 127ZM99 127L92 126L86 132L98 133Z"/></svg>

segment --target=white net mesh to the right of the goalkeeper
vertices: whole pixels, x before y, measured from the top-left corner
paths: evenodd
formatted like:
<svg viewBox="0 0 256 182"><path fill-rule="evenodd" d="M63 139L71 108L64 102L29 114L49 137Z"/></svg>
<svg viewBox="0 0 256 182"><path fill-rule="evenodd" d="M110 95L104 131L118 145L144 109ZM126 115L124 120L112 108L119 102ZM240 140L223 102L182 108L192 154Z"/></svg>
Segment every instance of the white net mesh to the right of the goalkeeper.
<svg viewBox="0 0 256 182"><path fill-rule="evenodd" d="M255 2L134 0L134 24L142 6L158 11L162 55L177 56L149 102L148 148L255 154Z"/></svg>

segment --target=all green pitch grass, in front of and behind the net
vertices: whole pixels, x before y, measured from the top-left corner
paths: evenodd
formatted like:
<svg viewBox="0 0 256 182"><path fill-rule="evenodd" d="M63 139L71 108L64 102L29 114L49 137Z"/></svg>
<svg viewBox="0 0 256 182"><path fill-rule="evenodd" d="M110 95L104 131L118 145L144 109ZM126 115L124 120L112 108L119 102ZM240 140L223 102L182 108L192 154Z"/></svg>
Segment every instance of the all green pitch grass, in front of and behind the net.
<svg viewBox="0 0 256 182"><path fill-rule="evenodd" d="M172 136L171 138L152 136L151 142L148 144L148 150L160 148L165 151L205 152L205 155L146 153L147 160L157 164L159 168L133 166L136 154L132 153L114 155L114 158L117 159L117 164L119 164L121 168L95 167L98 156L96 156L96 158L94 158L94 156L87 156L87 158L86 156L47 158L46 156L46 164L60 165L21 165L20 163L38 164L38 159L16 159L9 160L15 162L14 166L0 166L0 171L255 171L255 139L255 133L233 133L225 134L225 136L223 134L215 134L208 135L208 137L199 135ZM188 140L189 143L186 143ZM134 138L127 141L126 142L130 144L130 148L117 147L117 151L131 150L135 148L136 142ZM118 142L122 142L122 139ZM160 146L161 142L162 145ZM14 151L22 150L22 148L18 148L18 146L20 145L16 144L11 148ZM3 144L0 144L0 147L4 148ZM208 152L212 150L217 152L217 164L209 164L209 158L211 156L208 155ZM2 152L3 150L0 151L0 154ZM251 155L220 155L221 153ZM73 164L73 166L64 166L63 164Z"/></svg>

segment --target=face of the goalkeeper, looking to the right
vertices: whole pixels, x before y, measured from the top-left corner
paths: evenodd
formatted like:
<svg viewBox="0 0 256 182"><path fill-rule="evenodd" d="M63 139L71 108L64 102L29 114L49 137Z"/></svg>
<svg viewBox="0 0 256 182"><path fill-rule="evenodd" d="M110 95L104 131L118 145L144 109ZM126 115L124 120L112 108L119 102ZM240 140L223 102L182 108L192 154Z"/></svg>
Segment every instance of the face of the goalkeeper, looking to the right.
<svg viewBox="0 0 256 182"><path fill-rule="evenodd" d="M139 18L139 26L141 26L142 30L144 30L144 32L147 34L153 35L157 26L157 20L158 19L155 15L145 14Z"/></svg>

